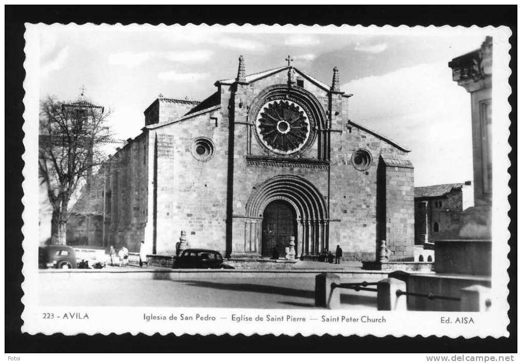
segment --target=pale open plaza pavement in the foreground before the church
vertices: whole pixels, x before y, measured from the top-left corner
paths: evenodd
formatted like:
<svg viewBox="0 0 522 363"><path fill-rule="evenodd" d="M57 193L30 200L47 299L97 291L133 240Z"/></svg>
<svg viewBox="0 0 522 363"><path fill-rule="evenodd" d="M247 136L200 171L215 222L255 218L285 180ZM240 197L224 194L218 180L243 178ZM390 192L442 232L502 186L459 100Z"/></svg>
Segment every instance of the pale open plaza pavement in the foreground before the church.
<svg viewBox="0 0 522 363"><path fill-rule="evenodd" d="M105 269L103 269L105 270ZM42 306L153 306L257 309L319 309L314 306L315 270L309 272L175 272L160 268L39 274ZM171 272L174 271L174 272ZM186 270L185 270L186 271ZM338 270L339 272L341 270ZM165 275L172 275L166 278ZM216 277L216 274L221 276ZM378 281L379 274L342 274L342 282ZM371 291L343 289L345 309L376 309Z"/></svg>

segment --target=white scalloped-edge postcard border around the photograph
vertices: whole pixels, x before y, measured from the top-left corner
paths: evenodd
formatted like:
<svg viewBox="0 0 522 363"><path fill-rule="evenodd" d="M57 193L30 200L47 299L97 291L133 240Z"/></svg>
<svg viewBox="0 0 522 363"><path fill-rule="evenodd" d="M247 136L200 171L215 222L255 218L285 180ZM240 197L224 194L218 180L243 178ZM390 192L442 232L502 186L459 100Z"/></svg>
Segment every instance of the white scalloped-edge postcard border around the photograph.
<svg viewBox="0 0 522 363"><path fill-rule="evenodd" d="M511 74L511 70L508 67L510 45L508 39L512 32L507 27L484 27L479 28L477 26L466 27L408 27L408 26L384 26L377 27L375 25L363 27L363 26L294 26L294 25L274 25L274 26L253 26L250 24L244 26L238 26L235 24L222 26L213 25L193 25L189 24L184 26L185 28L191 29L191 31L198 31L198 29L212 28L212 30L221 32L237 32L241 29L242 33L283 33L283 32L299 32L299 33L342 33L342 34L395 34L402 36L417 36L417 35L429 35L437 34L442 35L445 33L458 34L469 33L471 31L479 32L480 34L488 34L493 36L493 119L495 120L493 127L493 173L494 184L493 184L493 219L492 219L492 234L493 234L493 263L492 263L492 285L493 285L493 309L488 313L465 313L467 316L473 316L478 323L468 325L455 325L445 326L444 324L437 323L437 319L440 319L441 315L457 316L463 315L461 313L448 313L448 312L375 312L372 311L325 311L325 310L256 310L256 309L208 309L208 308L128 308L128 307L70 307L72 311L88 311L91 319L87 321L75 321L74 324L67 324L63 321L52 321L42 320L41 312L45 311L41 306L38 305L38 268L37 260L38 253L35 245L38 237L38 117L39 117L39 30L42 27L63 27L61 24L26 24L26 60L24 62L24 68L26 70L26 79L23 83L23 88L26 91L25 98L23 100L25 105L25 112L23 113L23 132L25 132L25 138L23 144L25 146L25 154L23 154L23 161L25 166L23 168L24 181L22 182L23 198L22 203L25 207L22 213L23 227L22 233L25 236L23 240L24 254L22 257L23 268L22 273L25 277L21 287L24 292L22 297L22 303L25 306L22 312L22 332L30 334L44 333L52 334L61 332L63 334L109 334L109 333L144 333L144 334L302 334L304 336L309 335L374 335L374 336L448 336L448 337L459 337L463 336L466 338L470 337L500 337L507 336L507 324L509 323L507 317L507 311L509 309L507 303L507 283L509 281L507 275L507 268L509 261L507 260L507 253L509 247L507 240L509 238L509 232L507 230L509 219L507 212L509 210L509 204L507 196L509 194L509 188L507 183L509 181L509 175L507 168L510 166L508 153L511 151L511 147L507 143L509 136L509 119L508 114L511 112L511 107L507 102L507 97L511 94L511 87L508 85L508 77ZM75 23L68 24L70 27L78 27ZM85 24L81 27L114 27L118 29L128 27L156 27L158 29L165 28L179 28L181 25L167 26L164 24L158 26L151 25L126 25L121 24L109 25L94 25ZM480 44L477 44L477 48ZM449 61L449 60L448 60ZM458 87L455 85L455 87ZM513 307L516 309L516 307ZM68 310L67 307L61 309L63 311ZM322 314L337 313L350 314L350 315L361 315L364 313L371 314L372 316L382 315L387 319L386 324L300 324L300 323L251 323L241 324L222 321L218 324L200 324L197 322L191 322L187 324L162 324L162 323L145 323L140 320L144 312L147 313L167 313L167 312L209 312L213 314L219 314L220 316L230 315L231 313L241 314L247 313L251 315L266 314L268 311L272 314L291 314L298 313L301 315L313 315L321 316ZM117 312L117 313L116 313ZM120 319L115 319L120 317ZM123 318L123 319L122 319Z"/></svg>

